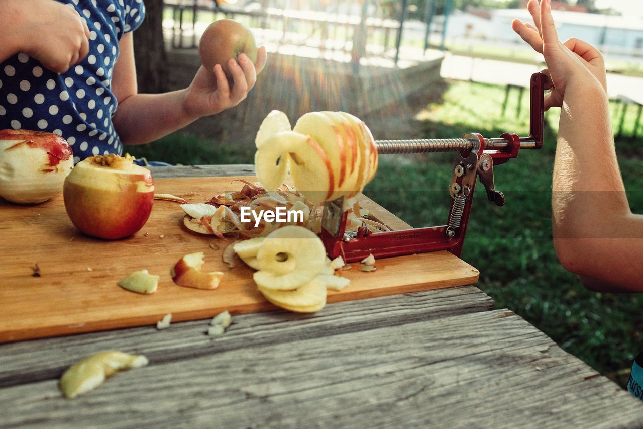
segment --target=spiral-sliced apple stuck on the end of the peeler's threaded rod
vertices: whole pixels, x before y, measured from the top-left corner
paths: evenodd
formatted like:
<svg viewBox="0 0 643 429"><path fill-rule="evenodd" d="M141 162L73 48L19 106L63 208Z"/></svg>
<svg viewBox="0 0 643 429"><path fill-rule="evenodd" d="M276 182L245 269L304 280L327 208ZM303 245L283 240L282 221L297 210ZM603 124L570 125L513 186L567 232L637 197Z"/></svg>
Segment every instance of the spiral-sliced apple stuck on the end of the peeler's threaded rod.
<svg viewBox="0 0 643 429"><path fill-rule="evenodd" d="M314 203L352 198L377 171L377 148L370 130L342 111L306 113L291 128L284 112L273 110L255 139L257 178L268 190L288 175Z"/></svg>

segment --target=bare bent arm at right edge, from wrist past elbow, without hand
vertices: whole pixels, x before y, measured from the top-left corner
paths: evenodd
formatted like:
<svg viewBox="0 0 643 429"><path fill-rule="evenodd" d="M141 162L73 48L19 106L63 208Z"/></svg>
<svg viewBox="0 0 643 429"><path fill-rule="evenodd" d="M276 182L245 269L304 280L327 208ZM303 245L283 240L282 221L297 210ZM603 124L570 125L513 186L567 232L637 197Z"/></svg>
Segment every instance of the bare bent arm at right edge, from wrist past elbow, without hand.
<svg viewBox="0 0 643 429"><path fill-rule="evenodd" d="M629 209L597 84L566 88L552 191L554 246L566 269L589 289L641 291L643 217Z"/></svg>

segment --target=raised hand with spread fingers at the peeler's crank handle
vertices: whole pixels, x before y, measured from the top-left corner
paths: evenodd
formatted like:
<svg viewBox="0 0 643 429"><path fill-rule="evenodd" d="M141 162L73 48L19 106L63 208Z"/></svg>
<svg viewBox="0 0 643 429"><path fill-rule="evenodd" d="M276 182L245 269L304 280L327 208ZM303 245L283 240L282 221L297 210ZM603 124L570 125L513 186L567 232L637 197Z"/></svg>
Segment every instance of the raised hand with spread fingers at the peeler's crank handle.
<svg viewBox="0 0 643 429"><path fill-rule="evenodd" d="M550 0L541 0L540 5L538 0L529 0L527 9L536 27L522 23L520 19L514 19L512 28L536 52L545 57L548 74L554 86L550 93L545 94L545 110L563 104L565 87L572 81L582 82L583 85L597 81L606 91L605 63L601 52L579 39L572 38L565 43L558 40Z"/></svg>

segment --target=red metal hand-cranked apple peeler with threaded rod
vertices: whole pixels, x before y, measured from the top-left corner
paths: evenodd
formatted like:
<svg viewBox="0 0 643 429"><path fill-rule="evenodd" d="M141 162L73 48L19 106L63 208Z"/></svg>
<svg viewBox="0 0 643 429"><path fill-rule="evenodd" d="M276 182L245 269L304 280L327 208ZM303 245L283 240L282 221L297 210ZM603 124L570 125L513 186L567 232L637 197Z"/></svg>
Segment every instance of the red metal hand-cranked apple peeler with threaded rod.
<svg viewBox="0 0 643 429"><path fill-rule="evenodd" d="M521 149L543 146L543 95L547 76L534 73L530 81L529 137L504 133L498 138L484 138L466 133L460 138L376 141L379 155L402 153L457 152L449 194L451 205L446 225L372 233L366 225L347 232L348 212L343 211L344 197L324 204L320 238L330 258L342 256L356 262L373 254L376 258L446 250L455 256L462 253L467 222L473 203L473 191L480 182L487 198L496 205L505 204L505 196L494 186L493 167L517 158Z"/></svg>

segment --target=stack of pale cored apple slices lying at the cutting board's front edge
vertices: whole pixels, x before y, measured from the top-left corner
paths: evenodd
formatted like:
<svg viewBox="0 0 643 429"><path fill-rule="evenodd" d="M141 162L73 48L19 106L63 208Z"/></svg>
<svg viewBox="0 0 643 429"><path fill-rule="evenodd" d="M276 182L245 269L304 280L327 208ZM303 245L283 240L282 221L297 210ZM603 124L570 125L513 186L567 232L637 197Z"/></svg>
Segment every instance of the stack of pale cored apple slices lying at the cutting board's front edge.
<svg viewBox="0 0 643 429"><path fill-rule="evenodd" d="M282 309L316 312L326 305L327 289L340 291L350 283L334 275L343 266L341 258L329 261L320 238L304 227L285 226L235 243L234 249L257 270L253 280L266 300Z"/></svg>

